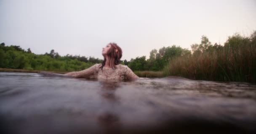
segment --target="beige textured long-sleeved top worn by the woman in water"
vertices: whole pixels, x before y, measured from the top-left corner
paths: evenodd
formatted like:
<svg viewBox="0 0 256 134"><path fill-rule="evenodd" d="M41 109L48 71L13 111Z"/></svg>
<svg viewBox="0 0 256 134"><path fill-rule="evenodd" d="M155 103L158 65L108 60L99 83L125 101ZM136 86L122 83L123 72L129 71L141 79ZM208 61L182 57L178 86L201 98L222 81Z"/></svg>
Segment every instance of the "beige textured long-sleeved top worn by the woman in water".
<svg viewBox="0 0 256 134"><path fill-rule="evenodd" d="M79 78L94 78L97 80L136 80L139 78L129 67L122 64L116 65L117 68L115 69L103 67L101 70L100 67L101 64L95 64L88 69L69 72L65 75Z"/></svg>

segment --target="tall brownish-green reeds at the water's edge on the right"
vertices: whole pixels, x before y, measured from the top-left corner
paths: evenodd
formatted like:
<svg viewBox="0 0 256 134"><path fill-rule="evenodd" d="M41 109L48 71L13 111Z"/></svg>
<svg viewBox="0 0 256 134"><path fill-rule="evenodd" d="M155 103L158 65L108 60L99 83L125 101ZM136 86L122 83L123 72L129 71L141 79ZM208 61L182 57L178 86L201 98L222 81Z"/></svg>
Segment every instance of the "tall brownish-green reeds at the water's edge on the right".
<svg viewBox="0 0 256 134"><path fill-rule="evenodd" d="M254 38L230 37L221 49L181 56L165 66L165 76L194 80L256 83L256 41Z"/></svg>

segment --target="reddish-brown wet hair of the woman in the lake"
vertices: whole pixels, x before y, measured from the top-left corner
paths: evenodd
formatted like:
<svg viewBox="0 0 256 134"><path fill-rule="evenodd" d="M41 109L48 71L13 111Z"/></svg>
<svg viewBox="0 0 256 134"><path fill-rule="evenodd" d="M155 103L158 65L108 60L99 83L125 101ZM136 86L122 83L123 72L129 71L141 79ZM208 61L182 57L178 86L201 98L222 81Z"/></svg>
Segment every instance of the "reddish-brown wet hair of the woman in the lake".
<svg viewBox="0 0 256 134"><path fill-rule="evenodd" d="M116 43L112 42L112 43L109 43L109 45L111 45L110 49L108 50L107 52L107 57L109 58L109 66L113 69L116 68L116 65L120 64L121 63L121 58L122 58L122 49L117 46ZM105 66L106 64L106 57L104 57L104 60L103 62L101 63L101 70L103 69L103 67Z"/></svg>

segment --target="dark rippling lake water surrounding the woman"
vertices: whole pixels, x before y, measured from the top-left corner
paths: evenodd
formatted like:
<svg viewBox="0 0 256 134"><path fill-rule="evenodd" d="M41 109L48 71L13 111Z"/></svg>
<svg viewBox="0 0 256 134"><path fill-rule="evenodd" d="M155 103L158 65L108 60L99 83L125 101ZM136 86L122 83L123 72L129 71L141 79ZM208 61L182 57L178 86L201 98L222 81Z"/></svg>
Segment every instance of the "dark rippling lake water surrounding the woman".
<svg viewBox="0 0 256 134"><path fill-rule="evenodd" d="M1 134L255 133L256 85L0 72L0 119Z"/></svg>

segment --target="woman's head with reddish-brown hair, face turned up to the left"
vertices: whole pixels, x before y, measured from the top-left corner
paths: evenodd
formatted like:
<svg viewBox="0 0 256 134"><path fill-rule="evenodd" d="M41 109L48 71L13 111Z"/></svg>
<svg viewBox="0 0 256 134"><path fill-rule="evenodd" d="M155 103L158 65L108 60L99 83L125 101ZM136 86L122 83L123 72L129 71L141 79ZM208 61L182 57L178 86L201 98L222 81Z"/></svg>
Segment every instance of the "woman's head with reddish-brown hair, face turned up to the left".
<svg viewBox="0 0 256 134"><path fill-rule="evenodd" d="M104 61L102 62L101 69L106 64L107 59L109 59L109 66L111 68L115 68L115 65L120 64L122 53L122 49L117 46L116 43L107 44L106 47L102 48L102 55L104 56Z"/></svg>

